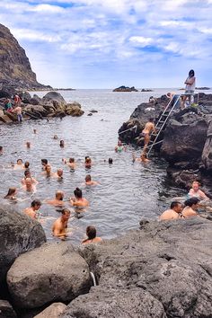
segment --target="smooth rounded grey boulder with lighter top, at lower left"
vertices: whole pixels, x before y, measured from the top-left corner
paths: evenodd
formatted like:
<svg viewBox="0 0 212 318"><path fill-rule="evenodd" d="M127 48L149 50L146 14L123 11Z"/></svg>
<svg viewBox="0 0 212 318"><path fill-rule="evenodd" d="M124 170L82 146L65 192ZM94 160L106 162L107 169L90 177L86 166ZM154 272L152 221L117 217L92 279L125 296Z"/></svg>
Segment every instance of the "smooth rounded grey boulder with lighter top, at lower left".
<svg viewBox="0 0 212 318"><path fill-rule="evenodd" d="M8 271L7 284L16 306L36 308L70 302L88 292L91 278L86 261L71 244L60 242L22 254Z"/></svg>

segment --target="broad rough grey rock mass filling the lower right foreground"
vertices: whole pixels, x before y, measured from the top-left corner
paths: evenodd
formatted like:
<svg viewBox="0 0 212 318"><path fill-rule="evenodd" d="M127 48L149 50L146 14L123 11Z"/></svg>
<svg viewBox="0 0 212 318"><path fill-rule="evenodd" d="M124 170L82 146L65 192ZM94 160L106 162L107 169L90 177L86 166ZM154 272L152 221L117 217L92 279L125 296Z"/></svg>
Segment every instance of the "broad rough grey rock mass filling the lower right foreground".
<svg viewBox="0 0 212 318"><path fill-rule="evenodd" d="M212 315L211 221L155 221L81 253L99 286L68 305L63 318Z"/></svg>

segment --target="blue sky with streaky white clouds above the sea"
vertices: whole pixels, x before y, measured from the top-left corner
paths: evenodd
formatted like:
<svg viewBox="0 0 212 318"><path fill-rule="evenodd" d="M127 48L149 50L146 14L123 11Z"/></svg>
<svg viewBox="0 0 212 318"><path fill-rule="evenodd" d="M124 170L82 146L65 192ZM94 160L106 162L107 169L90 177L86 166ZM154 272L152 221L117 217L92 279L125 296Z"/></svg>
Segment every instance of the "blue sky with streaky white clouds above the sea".
<svg viewBox="0 0 212 318"><path fill-rule="evenodd" d="M1 0L41 84L212 86L212 0Z"/></svg>

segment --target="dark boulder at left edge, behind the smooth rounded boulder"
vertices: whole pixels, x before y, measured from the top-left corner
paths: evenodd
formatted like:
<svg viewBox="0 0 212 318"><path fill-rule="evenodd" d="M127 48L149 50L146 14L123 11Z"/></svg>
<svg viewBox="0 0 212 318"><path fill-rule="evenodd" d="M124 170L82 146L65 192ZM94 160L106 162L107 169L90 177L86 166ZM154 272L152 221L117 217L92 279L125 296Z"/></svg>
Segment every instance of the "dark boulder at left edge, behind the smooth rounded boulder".
<svg viewBox="0 0 212 318"><path fill-rule="evenodd" d="M42 226L12 208L0 208L0 294L4 295L5 278L13 261L23 252L46 242Z"/></svg>

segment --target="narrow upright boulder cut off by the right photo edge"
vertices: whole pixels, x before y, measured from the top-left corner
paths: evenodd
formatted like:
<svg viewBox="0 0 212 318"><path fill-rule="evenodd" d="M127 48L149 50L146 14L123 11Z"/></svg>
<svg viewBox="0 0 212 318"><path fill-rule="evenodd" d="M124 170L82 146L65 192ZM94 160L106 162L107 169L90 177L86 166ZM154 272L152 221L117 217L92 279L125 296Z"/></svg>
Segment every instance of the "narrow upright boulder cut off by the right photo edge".
<svg viewBox="0 0 212 318"><path fill-rule="evenodd" d="M212 121L210 121L207 131L207 139L202 152L202 162L204 168L207 171L212 172Z"/></svg>

